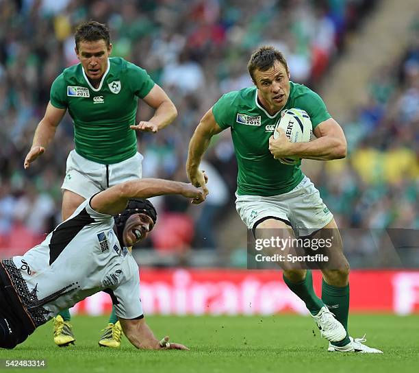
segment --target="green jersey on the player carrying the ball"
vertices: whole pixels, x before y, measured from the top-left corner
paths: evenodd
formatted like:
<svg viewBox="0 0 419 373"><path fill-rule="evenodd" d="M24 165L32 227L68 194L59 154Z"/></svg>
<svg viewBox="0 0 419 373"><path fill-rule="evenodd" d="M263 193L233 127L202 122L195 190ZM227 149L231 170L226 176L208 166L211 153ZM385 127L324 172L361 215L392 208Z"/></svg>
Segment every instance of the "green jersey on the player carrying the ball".
<svg viewBox="0 0 419 373"><path fill-rule="evenodd" d="M311 89L290 82L290 97L282 110L300 108L318 123L331 118L325 102ZM281 111L282 111L281 110ZM275 160L268 142L280 112L269 115L257 100L255 86L223 95L212 107L220 128L230 128L238 163L238 195L277 195L294 189L303 180L300 165L283 165Z"/></svg>

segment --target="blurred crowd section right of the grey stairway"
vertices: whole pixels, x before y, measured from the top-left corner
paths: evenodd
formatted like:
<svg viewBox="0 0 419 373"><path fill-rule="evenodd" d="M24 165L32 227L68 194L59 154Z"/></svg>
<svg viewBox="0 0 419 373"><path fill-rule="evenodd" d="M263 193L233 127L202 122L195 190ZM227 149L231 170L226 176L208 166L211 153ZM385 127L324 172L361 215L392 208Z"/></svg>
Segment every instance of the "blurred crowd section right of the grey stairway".
<svg viewBox="0 0 419 373"><path fill-rule="evenodd" d="M345 251L360 267L419 266L418 17L409 34L405 53L374 73L364 105L342 123L348 157L314 175L339 226L353 228Z"/></svg>

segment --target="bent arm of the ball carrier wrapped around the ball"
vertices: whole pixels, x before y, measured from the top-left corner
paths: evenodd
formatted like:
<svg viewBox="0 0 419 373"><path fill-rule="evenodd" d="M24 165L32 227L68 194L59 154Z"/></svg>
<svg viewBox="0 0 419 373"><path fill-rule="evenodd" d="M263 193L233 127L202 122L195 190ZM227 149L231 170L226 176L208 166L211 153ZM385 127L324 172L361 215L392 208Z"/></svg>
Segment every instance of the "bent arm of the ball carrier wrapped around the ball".
<svg viewBox="0 0 419 373"><path fill-rule="evenodd" d="M332 160L346 157L346 139L338 122L327 119L316 126L314 135L317 139L309 143L291 143L285 132L279 137L269 139L269 151L275 159L295 157L316 160Z"/></svg>

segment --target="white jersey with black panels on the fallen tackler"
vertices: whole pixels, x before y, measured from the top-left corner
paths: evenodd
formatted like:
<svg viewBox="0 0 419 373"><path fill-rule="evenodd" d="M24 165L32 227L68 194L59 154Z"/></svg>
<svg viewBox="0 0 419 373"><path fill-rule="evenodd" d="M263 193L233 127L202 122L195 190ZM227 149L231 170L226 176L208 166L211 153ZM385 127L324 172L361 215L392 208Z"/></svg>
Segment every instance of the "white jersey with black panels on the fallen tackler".
<svg viewBox="0 0 419 373"><path fill-rule="evenodd" d="M118 317L142 317L138 265L113 226L86 200L40 245L1 262L35 326L98 291L110 293Z"/></svg>

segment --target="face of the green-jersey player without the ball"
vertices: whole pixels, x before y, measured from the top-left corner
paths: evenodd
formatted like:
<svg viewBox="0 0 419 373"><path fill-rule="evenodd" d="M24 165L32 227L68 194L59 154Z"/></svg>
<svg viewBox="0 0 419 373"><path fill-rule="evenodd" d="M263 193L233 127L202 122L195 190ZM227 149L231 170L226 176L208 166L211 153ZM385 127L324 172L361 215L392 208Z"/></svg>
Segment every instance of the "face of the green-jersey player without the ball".
<svg viewBox="0 0 419 373"><path fill-rule="evenodd" d="M106 41L81 41L75 49L77 58L90 80L99 80L107 69L107 58L112 51L112 44L107 47Z"/></svg>

